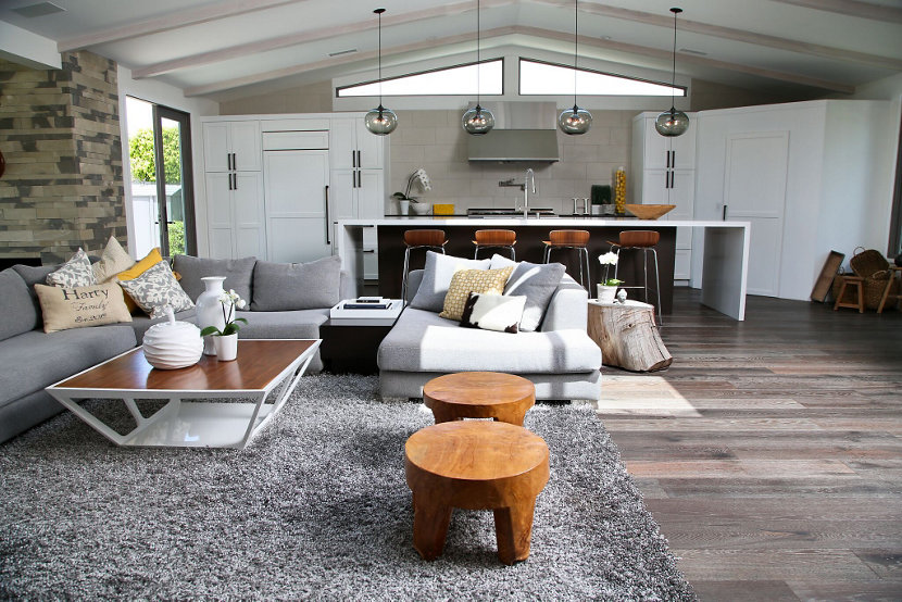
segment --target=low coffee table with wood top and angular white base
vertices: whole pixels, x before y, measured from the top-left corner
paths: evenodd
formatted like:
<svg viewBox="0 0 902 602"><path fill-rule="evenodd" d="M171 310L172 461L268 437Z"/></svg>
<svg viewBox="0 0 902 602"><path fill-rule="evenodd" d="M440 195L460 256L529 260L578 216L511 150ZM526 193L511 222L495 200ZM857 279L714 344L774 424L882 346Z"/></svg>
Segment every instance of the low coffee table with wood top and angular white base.
<svg viewBox="0 0 902 602"><path fill-rule="evenodd" d="M138 347L51 385L47 392L117 446L243 449L285 405L321 341L242 339L235 361L204 355L193 366L174 371L152 367ZM135 428L121 435L77 403L96 398L122 400ZM145 417L135 403L145 399L168 403ZM204 401L216 399L250 401Z"/></svg>

